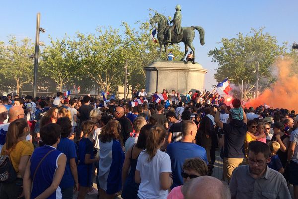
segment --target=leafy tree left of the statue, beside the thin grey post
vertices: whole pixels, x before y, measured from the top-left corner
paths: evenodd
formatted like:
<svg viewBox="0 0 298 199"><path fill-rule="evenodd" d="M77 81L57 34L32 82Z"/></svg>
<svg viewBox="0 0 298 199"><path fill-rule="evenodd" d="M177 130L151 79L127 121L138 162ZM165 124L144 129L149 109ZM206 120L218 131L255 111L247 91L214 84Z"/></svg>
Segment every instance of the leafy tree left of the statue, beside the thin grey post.
<svg viewBox="0 0 298 199"><path fill-rule="evenodd" d="M99 35L78 33L77 52L80 69L105 92L121 85L125 58L118 29L97 29Z"/></svg>

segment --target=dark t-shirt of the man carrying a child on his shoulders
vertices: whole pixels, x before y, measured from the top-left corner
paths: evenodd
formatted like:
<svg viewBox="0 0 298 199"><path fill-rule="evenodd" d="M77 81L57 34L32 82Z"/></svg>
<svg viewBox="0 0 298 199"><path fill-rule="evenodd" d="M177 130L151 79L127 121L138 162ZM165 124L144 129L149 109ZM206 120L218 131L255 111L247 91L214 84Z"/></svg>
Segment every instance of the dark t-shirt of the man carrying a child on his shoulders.
<svg viewBox="0 0 298 199"><path fill-rule="evenodd" d="M246 124L236 127L233 124L224 124L224 157L244 158L244 140L246 136Z"/></svg>

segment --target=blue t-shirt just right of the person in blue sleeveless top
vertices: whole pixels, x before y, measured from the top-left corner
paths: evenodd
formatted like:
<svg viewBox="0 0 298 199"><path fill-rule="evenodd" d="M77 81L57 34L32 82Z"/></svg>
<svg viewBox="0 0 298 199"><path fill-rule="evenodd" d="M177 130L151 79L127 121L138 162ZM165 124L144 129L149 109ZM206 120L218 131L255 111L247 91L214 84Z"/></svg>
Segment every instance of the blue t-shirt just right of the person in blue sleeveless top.
<svg viewBox="0 0 298 199"><path fill-rule="evenodd" d="M70 159L77 157L74 142L68 138L61 138L59 144L57 145L57 150L64 153L67 158L65 171L59 186L62 189L74 187L74 177L70 167Z"/></svg>

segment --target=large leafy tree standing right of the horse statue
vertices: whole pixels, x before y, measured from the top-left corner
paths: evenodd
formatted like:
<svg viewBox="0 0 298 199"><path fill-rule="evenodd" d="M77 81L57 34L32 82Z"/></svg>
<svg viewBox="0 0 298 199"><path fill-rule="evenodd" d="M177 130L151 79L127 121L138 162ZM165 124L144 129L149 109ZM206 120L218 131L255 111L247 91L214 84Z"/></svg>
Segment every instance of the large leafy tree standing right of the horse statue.
<svg viewBox="0 0 298 199"><path fill-rule="evenodd" d="M239 86L243 80L244 99L252 96L252 89L255 88L256 65L259 64L259 79L262 80L259 86L264 89L274 81L269 71L270 65L285 51L285 46L279 46L275 36L263 33L263 29L251 29L245 37L239 33L238 38L223 38L220 42L222 47L208 53L213 62L218 62L219 67L214 75L218 82L228 77L231 83Z"/></svg>

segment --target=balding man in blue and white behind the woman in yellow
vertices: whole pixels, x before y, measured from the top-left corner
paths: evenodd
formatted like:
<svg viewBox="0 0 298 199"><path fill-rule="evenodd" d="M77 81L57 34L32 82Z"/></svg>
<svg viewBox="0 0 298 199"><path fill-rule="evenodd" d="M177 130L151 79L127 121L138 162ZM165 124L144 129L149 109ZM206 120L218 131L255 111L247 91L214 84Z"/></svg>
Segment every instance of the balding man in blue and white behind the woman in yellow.
<svg viewBox="0 0 298 199"><path fill-rule="evenodd" d="M0 152L6 142L6 133L8 131L9 124L16 119L24 118L24 109L20 106L12 106L8 111L8 117L8 122L0 125Z"/></svg>

